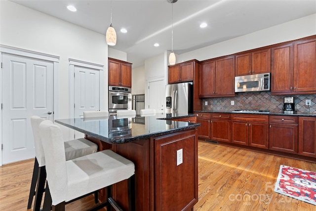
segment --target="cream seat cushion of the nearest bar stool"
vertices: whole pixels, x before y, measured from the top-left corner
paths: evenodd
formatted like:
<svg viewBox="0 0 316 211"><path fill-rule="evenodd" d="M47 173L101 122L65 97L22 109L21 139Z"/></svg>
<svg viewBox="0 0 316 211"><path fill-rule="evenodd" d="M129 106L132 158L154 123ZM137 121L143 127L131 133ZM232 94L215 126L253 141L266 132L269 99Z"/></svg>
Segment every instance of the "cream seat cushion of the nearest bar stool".
<svg viewBox="0 0 316 211"><path fill-rule="evenodd" d="M131 161L111 150L67 161L66 169L66 202L128 179L135 172Z"/></svg>

